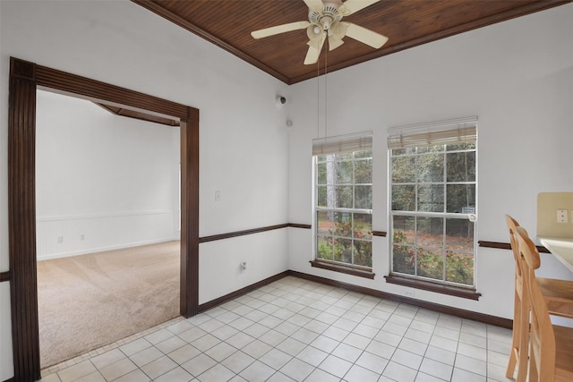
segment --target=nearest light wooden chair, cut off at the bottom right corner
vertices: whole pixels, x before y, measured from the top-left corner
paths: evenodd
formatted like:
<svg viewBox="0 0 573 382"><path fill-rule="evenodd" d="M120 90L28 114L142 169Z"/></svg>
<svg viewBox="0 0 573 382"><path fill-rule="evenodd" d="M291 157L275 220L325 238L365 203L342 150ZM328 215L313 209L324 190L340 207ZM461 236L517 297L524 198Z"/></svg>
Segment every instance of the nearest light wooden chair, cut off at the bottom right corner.
<svg viewBox="0 0 573 382"><path fill-rule="evenodd" d="M522 302L531 307L529 382L573 381L573 327L552 324L535 276L541 264L539 252L523 227L516 227L516 236L526 291Z"/></svg>

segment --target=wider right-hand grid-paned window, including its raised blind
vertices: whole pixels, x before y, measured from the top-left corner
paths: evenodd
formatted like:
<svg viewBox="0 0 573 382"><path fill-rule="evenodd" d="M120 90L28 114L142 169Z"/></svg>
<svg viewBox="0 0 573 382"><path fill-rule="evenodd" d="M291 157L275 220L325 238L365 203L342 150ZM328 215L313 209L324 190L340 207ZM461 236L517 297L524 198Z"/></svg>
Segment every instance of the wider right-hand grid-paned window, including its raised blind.
<svg viewBox="0 0 573 382"><path fill-rule="evenodd" d="M391 273L474 286L475 118L389 130Z"/></svg>

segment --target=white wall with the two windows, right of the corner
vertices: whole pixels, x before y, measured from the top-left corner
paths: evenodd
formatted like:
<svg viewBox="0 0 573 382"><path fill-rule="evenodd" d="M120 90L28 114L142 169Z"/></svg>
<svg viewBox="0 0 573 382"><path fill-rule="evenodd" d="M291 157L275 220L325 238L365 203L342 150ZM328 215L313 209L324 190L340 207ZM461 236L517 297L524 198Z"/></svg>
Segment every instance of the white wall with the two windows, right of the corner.
<svg viewBox="0 0 573 382"><path fill-rule="evenodd" d="M389 230L387 129L477 115L477 239L509 242L505 214L535 237L537 193L573 189L572 20L568 4L328 75L328 135L374 134L374 230ZM321 79L321 94L323 86ZM291 92L289 221L310 224L311 140L324 136L325 127L322 116L317 126L317 80ZM406 291L383 278L389 274L388 238L373 239L376 277L367 280L312 268L312 231L291 228L289 234L290 269L398 295ZM478 248L479 301L421 290L415 298L511 318L513 261L510 250ZM542 264L541 275L573 279L551 255L543 254Z"/></svg>

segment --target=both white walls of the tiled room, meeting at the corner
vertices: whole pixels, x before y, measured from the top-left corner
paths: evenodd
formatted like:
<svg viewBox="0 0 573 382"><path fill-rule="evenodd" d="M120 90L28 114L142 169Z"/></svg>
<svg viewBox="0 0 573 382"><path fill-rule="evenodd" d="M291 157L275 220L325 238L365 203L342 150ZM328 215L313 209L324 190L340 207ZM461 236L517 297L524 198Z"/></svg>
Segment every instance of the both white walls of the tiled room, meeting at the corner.
<svg viewBox="0 0 573 382"><path fill-rule="evenodd" d="M0 2L0 115L7 113L9 56L167 98L201 110L200 235L285 222L311 223L311 140L316 80L292 87L136 4ZM386 231L386 129L479 117L479 233L508 242L503 214L535 235L539 191L570 191L573 5L535 13L381 57L328 76L329 135L374 132L374 226ZM278 109L275 96L289 99ZM294 125L286 129L286 116ZM321 127L321 135L324 134ZM287 132L288 131L288 132ZM0 119L6 142L7 118ZM261 147L264 142L264 147ZM8 269L6 146L0 160L0 271ZM517 159L517 168L509 168ZM221 191L216 201L215 191ZM373 281L311 268L312 232L288 230L200 247L200 301L286 268L389 293L388 241L374 239ZM287 250L288 249L288 250ZM477 254L480 301L415 291L415 297L510 317L513 259ZM238 264L248 262L247 273ZM570 276L544 256L542 273ZM262 266L271 264L272 267ZM252 272L252 273L249 273ZM212 282L210 282L212 280ZM0 302L0 379L13 375L9 283Z"/></svg>

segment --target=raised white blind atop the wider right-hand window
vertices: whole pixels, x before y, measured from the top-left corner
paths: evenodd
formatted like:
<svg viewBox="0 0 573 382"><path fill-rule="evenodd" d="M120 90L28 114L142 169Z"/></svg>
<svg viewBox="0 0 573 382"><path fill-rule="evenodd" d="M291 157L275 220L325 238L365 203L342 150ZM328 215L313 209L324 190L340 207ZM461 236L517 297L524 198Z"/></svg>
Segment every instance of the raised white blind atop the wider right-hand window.
<svg viewBox="0 0 573 382"><path fill-rule="evenodd" d="M399 126L388 130L388 149L402 149L477 140L477 117Z"/></svg>

